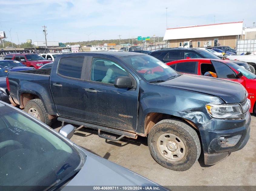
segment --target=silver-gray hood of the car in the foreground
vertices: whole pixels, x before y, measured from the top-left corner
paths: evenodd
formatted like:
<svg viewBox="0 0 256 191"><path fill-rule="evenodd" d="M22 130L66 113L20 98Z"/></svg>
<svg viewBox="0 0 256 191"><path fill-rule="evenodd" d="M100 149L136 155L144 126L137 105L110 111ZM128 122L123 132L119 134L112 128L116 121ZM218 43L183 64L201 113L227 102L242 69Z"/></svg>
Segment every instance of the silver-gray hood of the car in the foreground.
<svg viewBox="0 0 256 191"><path fill-rule="evenodd" d="M80 147L79 147L80 148ZM157 186L159 190L166 190L158 184L124 168L118 164L101 158L84 149L86 159L82 169L62 190L87 190L83 186ZM91 190L88 188L88 190Z"/></svg>

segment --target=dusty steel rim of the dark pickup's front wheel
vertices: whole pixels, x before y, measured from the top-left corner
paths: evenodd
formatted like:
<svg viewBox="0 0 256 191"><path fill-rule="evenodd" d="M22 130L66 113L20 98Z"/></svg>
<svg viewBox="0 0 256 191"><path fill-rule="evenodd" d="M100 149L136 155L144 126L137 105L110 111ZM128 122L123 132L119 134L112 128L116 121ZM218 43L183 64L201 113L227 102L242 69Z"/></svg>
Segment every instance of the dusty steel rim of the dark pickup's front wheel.
<svg viewBox="0 0 256 191"><path fill-rule="evenodd" d="M163 133L157 139L160 154L169 161L180 161L185 157L186 147L180 137L172 133Z"/></svg>

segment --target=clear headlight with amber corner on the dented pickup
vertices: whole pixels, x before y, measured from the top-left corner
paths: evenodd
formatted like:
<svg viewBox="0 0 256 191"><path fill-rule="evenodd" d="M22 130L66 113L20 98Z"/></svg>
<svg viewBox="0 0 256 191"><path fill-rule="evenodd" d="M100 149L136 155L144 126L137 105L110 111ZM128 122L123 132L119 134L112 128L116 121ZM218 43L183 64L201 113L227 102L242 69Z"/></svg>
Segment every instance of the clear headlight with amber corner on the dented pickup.
<svg viewBox="0 0 256 191"><path fill-rule="evenodd" d="M242 108L239 104L206 104L205 106L211 117L218 119L243 119Z"/></svg>

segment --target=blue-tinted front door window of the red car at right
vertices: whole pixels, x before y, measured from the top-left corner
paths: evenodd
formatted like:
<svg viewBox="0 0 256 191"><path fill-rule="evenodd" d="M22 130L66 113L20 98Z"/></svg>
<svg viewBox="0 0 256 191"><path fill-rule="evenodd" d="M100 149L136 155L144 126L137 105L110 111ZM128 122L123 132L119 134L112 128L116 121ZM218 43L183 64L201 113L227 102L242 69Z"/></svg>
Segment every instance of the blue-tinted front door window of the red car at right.
<svg viewBox="0 0 256 191"><path fill-rule="evenodd" d="M236 78L236 73L223 62L211 61L218 78Z"/></svg>

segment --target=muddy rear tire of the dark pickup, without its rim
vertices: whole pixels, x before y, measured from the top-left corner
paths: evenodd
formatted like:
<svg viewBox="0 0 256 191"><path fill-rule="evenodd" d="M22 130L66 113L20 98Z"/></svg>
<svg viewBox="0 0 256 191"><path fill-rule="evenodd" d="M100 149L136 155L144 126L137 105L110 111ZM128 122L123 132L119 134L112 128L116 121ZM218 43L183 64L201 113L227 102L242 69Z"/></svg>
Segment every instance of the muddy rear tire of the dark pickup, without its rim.
<svg viewBox="0 0 256 191"><path fill-rule="evenodd" d="M52 125L52 119L49 119L48 113L45 110L42 100L40 99L33 99L26 103L24 111L29 112L30 108L35 108L38 111L40 116L40 120L48 126Z"/></svg>

